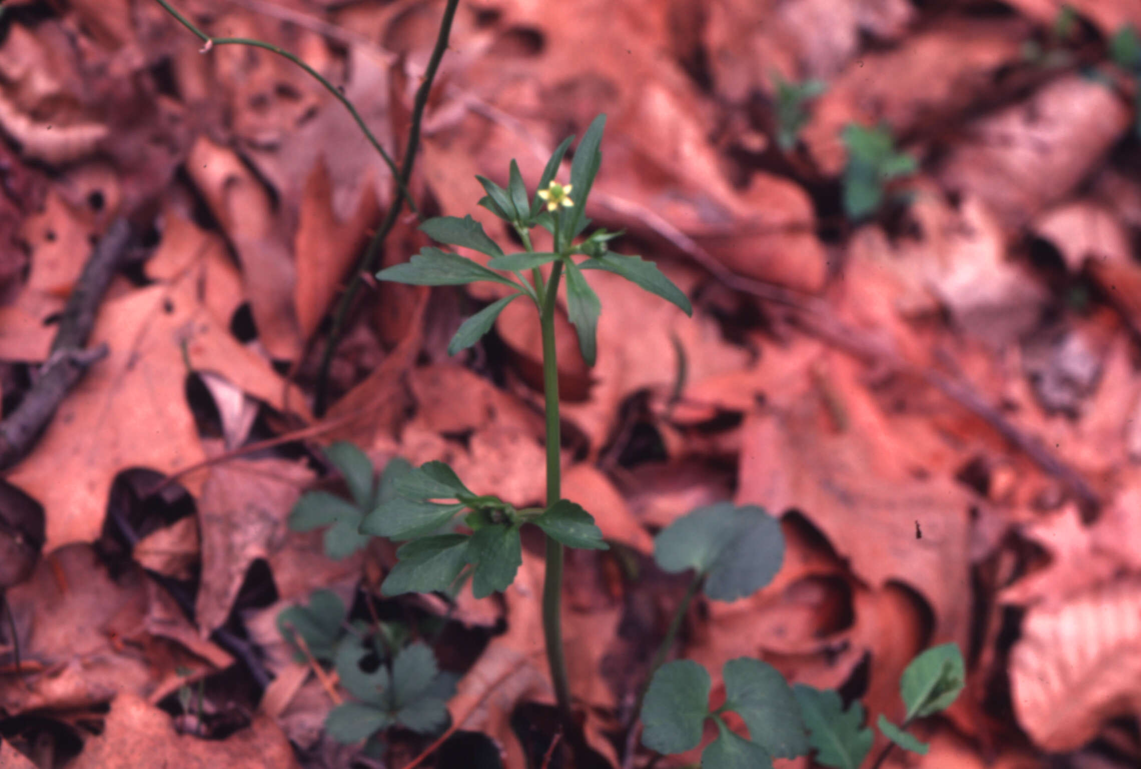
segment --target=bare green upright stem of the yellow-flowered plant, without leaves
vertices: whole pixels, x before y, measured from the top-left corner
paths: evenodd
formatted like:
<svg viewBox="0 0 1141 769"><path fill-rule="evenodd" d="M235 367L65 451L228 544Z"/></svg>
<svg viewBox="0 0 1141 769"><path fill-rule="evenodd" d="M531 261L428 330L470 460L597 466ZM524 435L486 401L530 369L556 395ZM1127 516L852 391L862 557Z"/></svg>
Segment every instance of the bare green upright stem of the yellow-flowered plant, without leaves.
<svg viewBox="0 0 1141 769"><path fill-rule="evenodd" d="M561 467L559 447L559 369L555 349L555 307L559 291L563 262L556 261L547 282L540 323L543 332L543 399L547 407L547 504L561 496ZM567 683L567 664L563 654L563 544L547 537L547 575L543 581L543 636L547 641L547 662L551 667L555 698L567 729L573 730L570 687Z"/></svg>

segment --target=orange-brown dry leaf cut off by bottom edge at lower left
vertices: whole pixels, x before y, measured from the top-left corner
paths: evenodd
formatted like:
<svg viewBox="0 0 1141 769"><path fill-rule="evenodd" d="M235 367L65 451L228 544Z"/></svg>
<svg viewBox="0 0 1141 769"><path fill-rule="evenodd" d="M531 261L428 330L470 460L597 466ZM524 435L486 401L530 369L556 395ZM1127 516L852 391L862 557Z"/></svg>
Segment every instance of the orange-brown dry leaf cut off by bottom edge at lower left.
<svg viewBox="0 0 1141 769"><path fill-rule="evenodd" d="M293 748L281 729L256 715L248 729L225 740L180 735L165 711L129 694L115 697L102 735L83 746L75 769L298 769Z"/></svg>

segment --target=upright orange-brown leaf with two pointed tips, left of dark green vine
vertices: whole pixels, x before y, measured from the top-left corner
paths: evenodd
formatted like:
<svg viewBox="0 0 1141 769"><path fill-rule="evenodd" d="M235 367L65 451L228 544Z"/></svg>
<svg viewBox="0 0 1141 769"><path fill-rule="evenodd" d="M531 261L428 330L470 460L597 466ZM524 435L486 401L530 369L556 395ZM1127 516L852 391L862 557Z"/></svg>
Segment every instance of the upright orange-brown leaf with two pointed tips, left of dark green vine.
<svg viewBox="0 0 1141 769"><path fill-rule="evenodd" d="M367 236L377 216L377 194L366 185L364 195L348 219L333 210L333 186L329 165L319 157L309 172L301 193L301 210L293 240L297 254L297 283L293 302L301 338L317 330L329 302Z"/></svg>

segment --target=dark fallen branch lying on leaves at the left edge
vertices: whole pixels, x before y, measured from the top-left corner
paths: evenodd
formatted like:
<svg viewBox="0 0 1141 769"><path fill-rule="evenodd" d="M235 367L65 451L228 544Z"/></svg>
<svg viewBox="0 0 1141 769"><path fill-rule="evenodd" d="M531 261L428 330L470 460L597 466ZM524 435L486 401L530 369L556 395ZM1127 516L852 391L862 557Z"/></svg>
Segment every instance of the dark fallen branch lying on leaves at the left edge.
<svg viewBox="0 0 1141 769"><path fill-rule="evenodd" d="M71 388L88 366L107 354L105 345L92 349L83 346L95 326L99 301L122 264L130 236L127 219L115 219L83 266L59 319L51 354L40 366L24 399L0 422L0 470L11 467L32 450Z"/></svg>

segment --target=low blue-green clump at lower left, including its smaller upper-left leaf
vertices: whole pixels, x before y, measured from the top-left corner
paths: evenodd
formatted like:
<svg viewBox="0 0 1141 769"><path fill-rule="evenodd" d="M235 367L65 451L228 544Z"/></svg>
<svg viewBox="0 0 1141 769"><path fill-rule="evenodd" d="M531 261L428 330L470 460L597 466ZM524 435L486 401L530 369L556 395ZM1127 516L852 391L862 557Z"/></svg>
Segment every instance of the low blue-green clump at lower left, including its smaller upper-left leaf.
<svg viewBox="0 0 1141 769"><path fill-rule="evenodd" d="M277 615L282 637L299 662L331 666L354 702L337 705L325 720L331 737L345 744L367 740L366 752L381 748L380 735L393 726L434 735L448 722L446 703L456 675L440 672L423 642L408 642L399 622L348 623L348 610L329 590L317 590L308 606Z"/></svg>

